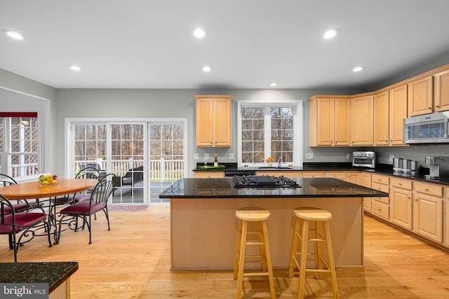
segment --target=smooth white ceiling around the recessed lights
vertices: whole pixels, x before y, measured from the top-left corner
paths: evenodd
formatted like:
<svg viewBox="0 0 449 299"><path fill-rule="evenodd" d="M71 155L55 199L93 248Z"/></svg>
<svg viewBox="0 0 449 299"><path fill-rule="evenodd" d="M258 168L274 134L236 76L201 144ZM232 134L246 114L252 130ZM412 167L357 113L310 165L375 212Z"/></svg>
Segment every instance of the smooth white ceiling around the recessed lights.
<svg viewBox="0 0 449 299"><path fill-rule="evenodd" d="M0 68L54 88L365 88L447 57L448 11L448 0L0 0L0 29L27 36L0 34ZM324 40L331 28L341 34Z"/></svg>

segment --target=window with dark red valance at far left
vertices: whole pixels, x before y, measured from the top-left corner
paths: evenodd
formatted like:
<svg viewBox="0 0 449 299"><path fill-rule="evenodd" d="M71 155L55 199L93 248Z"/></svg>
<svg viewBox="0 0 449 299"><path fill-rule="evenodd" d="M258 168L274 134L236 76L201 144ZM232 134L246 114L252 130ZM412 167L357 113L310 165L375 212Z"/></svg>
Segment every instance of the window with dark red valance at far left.
<svg viewBox="0 0 449 299"><path fill-rule="evenodd" d="M39 173L37 113L0 113L0 173L13 178Z"/></svg>

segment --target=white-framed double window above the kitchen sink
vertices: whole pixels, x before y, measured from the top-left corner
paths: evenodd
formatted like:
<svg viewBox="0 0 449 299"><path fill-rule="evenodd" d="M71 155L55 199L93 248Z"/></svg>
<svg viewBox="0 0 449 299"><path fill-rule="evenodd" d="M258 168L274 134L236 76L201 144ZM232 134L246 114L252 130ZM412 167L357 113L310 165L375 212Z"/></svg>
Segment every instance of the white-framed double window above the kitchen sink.
<svg viewBox="0 0 449 299"><path fill-rule="evenodd" d="M239 163L302 165L302 102L239 101Z"/></svg>

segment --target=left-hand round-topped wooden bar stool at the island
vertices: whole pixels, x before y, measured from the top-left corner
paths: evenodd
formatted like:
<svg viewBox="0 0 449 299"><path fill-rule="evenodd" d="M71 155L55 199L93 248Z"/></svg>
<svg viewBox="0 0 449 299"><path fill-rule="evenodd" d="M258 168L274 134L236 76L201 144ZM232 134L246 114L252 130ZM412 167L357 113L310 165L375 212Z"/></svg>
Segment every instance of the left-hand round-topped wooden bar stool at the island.
<svg viewBox="0 0 449 299"><path fill-rule="evenodd" d="M234 263L234 279L237 279L237 295L241 298L243 288L243 277L248 276L268 276L269 293L271 298L276 298L274 293L274 280L272 269L272 256L269 251L267 219L269 211L257 207L244 207L236 210L236 217L239 218L239 237L237 239L236 260ZM248 231L248 223L257 222L258 230ZM247 235L258 235L258 240L247 240ZM259 246L260 255L245 256L245 249L248 245ZM246 258L260 259L262 265L261 272L243 273Z"/></svg>

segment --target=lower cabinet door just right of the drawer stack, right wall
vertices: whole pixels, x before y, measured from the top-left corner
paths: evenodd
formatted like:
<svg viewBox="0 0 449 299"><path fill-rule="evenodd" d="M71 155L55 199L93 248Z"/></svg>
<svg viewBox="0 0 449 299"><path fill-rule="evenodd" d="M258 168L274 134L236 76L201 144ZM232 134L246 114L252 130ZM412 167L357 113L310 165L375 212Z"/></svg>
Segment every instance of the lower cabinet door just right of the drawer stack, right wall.
<svg viewBox="0 0 449 299"><path fill-rule="evenodd" d="M391 191L391 221L411 230L413 228L412 192L399 188Z"/></svg>

